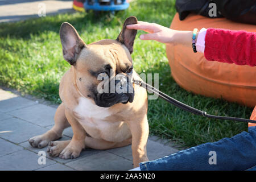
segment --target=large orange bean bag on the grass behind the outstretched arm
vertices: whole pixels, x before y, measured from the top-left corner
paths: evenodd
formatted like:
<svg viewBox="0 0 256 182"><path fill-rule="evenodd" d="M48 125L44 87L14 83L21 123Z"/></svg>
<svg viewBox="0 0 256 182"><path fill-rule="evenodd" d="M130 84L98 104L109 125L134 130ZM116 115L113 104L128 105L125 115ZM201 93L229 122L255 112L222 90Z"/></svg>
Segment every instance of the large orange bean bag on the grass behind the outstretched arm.
<svg viewBox="0 0 256 182"><path fill-rule="evenodd" d="M194 14L182 21L176 14L170 28L200 30L203 27L256 31L256 26L251 24L236 23L225 18L209 19ZM203 53L194 53L192 47L181 45L166 46L166 53L172 77L182 88L250 107L256 105L256 67L207 61Z"/></svg>

